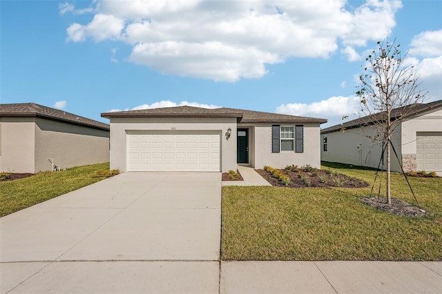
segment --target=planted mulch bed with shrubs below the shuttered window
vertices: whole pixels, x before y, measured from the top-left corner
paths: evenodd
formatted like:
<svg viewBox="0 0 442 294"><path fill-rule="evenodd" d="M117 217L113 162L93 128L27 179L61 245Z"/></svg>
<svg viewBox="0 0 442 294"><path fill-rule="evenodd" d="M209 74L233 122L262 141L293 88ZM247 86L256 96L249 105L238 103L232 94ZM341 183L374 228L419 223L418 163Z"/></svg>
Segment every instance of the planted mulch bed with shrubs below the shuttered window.
<svg viewBox="0 0 442 294"><path fill-rule="evenodd" d="M290 171L290 170L281 170L284 175L290 177L291 181L288 186L285 186L279 179L273 177L271 173L262 170L256 169L256 172L259 173L262 177L264 177L267 182L269 182L272 186L279 187L287 187L287 188L305 188L305 187L336 187L337 185L333 182L333 177L339 177L342 179L342 184L339 187L341 188L363 188L367 187L368 184L354 177L348 177L347 175L342 174L332 174L326 173L324 170L314 170L311 172L306 172L304 170L299 170L298 172ZM308 186L305 183L305 180L302 177L306 177L309 179L310 185ZM321 182L320 177L327 177L327 181L325 183Z"/></svg>

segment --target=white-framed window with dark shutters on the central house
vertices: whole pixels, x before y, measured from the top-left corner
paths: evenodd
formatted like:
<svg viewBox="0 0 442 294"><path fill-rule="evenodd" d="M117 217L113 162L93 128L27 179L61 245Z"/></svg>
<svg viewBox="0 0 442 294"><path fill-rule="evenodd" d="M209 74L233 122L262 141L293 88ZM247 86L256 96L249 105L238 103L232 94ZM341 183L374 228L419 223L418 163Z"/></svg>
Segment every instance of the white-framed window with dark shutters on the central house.
<svg viewBox="0 0 442 294"><path fill-rule="evenodd" d="M304 152L304 126L271 126L271 152Z"/></svg>

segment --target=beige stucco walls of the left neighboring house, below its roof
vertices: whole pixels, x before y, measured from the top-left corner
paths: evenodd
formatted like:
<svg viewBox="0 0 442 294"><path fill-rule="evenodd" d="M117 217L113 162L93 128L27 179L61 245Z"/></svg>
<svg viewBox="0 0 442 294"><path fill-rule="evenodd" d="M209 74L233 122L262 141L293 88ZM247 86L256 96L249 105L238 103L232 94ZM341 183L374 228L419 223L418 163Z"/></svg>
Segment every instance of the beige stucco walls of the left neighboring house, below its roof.
<svg viewBox="0 0 442 294"><path fill-rule="evenodd" d="M0 170L37 173L109 161L109 132L35 117L1 117Z"/></svg>

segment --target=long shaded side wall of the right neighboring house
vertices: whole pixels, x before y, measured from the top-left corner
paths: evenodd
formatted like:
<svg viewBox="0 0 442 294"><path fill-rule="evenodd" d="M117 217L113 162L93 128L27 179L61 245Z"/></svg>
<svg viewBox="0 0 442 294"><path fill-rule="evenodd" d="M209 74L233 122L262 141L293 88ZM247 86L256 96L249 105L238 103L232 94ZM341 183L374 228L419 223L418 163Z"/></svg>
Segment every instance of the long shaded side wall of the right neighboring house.
<svg viewBox="0 0 442 294"><path fill-rule="evenodd" d="M340 162L342 164L354 164L355 166L369 166L377 168L381 159L382 146L372 141L367 135L375 135L376 128L365 127L353 128L321 135L321 160ZM327 151L323 149L323 138L327 137ZM392 143L399 159L401 159L401 128L396 128L392 137ZM359 148L358 148L359 147ZM392 150L391 168L393 171L401 171L399 161ZM386 164L386 157L384 159ZM382 164L381 164L382 168Z"/></svg>

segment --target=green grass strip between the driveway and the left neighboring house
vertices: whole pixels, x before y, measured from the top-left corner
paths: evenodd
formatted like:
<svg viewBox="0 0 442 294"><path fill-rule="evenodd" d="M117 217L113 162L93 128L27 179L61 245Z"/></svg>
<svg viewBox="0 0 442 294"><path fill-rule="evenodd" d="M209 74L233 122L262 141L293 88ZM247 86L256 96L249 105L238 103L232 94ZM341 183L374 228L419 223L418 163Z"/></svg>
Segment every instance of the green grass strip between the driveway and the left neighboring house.
<svg viewBox="0 0 442 294"><path fill-rule="evenodd" d="M106 177L95 177L95 171L108 169L108 163L94 164L0 182L0 217L99 182Z"/></svg>

